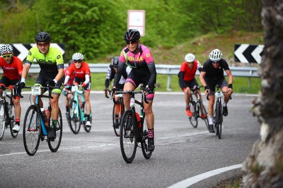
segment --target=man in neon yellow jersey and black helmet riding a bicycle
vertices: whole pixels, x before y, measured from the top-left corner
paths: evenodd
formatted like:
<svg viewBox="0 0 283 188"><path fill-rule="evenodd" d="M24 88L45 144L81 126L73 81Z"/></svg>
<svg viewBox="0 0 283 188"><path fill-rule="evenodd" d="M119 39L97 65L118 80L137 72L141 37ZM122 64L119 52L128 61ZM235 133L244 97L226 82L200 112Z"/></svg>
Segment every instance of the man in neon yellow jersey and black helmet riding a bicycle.
<svg viewBox="0 0 283 188"><path fill-rule="evenodd" d="M36 37L36 47L32 47L27 55L23 72L22 79L19 84L19 91L25 86L25 80L29 71L29 68L34 59L40 66L40 72L36 80L35 86L46 87L49 83L53 86L52 90L53 99L50 98L52 112L52 124L48 132L48 139L54 141L56 139L56 126L59 113L58 99L64 87L64 62L61 51L56 47L50 47L51 37L46 32L39 32ZM46 91L42 91L44 93ZM35 96L34 96L35 101ZM42 108L42 100L39 100L39 105Z"/></svg>

